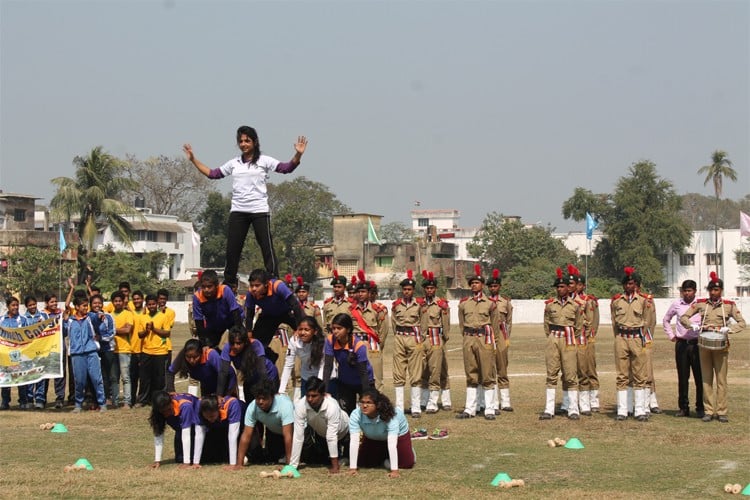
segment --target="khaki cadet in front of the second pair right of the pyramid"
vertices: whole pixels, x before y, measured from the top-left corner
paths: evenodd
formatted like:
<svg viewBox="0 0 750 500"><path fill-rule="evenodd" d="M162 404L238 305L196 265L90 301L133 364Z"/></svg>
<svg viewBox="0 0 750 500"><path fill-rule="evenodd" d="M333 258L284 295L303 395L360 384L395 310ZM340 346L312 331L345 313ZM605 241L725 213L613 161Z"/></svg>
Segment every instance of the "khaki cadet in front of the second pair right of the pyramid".
<svg viewBox="0 0 750 500"><path fill-rule="evenodd" d="M473 418L477 410L477 392L484 392L484 418L495 420L495 302L482 293L484 278L479 265L468 277L472 296L458 304L458 326L463 333L464 371L466 372L466 406L456 418ZM481 387L480 387L481 386Z"/></svg>

